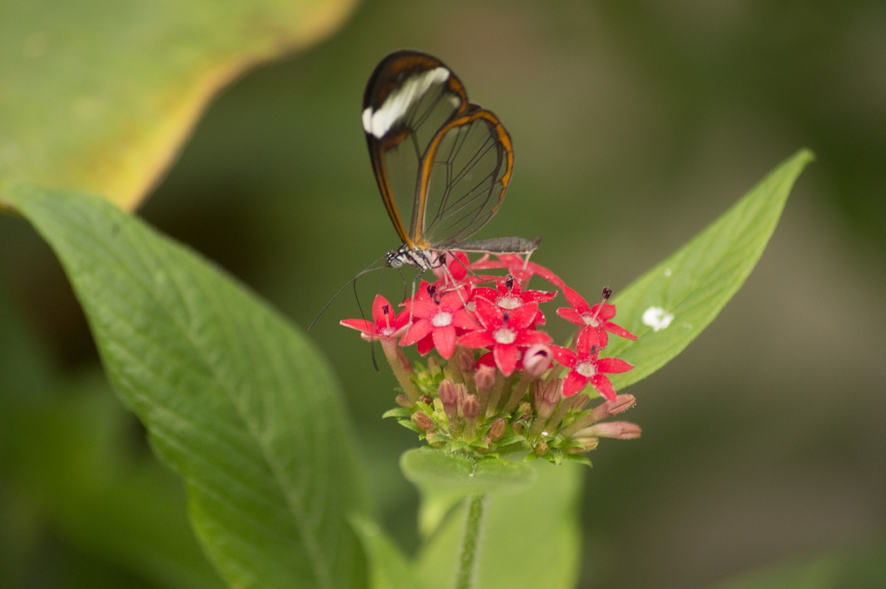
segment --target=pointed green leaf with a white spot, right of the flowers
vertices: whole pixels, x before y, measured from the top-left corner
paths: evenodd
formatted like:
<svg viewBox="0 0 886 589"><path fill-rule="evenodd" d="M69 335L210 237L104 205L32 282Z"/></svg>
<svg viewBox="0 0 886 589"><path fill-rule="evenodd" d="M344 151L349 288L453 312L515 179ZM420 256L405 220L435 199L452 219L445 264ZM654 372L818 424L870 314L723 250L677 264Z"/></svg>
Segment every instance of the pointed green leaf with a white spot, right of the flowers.
<svg viewBox="0 0 886 589"><path fill-rule="evenodd" d="M637 336L633 342L610 338L606 348L604 355L636 367L611 376L616 389L664 366L726 306L757 264L797 176L812 159L811 151L797 151L688 244L613 298L617 322ZM672 322L656 331L642 320L649 309L662 309Z"/></svg>

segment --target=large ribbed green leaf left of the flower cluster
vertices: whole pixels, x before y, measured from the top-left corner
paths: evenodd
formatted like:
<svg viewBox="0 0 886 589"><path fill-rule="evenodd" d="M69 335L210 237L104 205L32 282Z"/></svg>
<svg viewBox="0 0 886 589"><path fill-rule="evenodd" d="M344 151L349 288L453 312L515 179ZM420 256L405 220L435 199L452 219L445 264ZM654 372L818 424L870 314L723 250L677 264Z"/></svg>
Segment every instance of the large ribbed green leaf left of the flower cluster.
<svg viewBox="0 0 886 589"><path fill-rule="evenodd" d="M365 584L366 510L329 368L217 268L101 198L5 195L51 244L105 370L184 477L191 521L237 587Z"/></svg>

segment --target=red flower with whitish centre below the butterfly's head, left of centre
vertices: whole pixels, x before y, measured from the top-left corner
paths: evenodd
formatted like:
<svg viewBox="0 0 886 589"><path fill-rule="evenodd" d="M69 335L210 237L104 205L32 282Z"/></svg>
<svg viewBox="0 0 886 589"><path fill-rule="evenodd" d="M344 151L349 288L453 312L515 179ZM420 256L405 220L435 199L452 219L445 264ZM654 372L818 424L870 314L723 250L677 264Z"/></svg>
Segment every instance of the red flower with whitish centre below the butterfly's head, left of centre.
<svg viewBox="0 0 886 589"><path fill-rule="evenodd" d="M464 310L464 301L468 297L466 291L447 292L441 297L432 287L424 289L427 297L416 296L403 312L411 313L414 318L412 327L403 338L403 345L413 345L430 336L440 356L448 359L455 352L456 329L477 329L478 324ZM423 352L427 343L425 341L419 346L420 353L431 351L432 348L428 347Z"/></svg>

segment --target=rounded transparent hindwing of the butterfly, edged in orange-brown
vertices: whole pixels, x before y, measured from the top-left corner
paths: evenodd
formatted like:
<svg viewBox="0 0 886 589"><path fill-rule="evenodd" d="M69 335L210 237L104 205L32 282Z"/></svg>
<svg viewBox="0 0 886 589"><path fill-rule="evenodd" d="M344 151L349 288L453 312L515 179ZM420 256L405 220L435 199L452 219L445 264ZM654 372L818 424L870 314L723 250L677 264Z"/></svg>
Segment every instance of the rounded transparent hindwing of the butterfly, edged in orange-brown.
<svg viewBox="0 0 886 589"><path fill-rule="evenodd" d="M469 105L439 129L419 170L419 245L445 249L473 235L498 210L514 167L508 131L493 112Z"/></svg>

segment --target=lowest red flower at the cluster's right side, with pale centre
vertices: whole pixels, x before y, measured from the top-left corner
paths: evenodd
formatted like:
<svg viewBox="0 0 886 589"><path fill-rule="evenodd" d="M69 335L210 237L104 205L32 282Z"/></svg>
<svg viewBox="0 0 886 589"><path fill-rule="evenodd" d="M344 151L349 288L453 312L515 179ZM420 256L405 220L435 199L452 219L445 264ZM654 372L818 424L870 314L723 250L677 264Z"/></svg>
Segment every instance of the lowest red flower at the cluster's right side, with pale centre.
<svg viewBox="0 0 886 589"><path fill-rule="evenodd" d="M570 368L570 373L563 379L563 397L571 397L590 383L603 399L615 400L615 389L604 374L618 374L633 368L631 364L618 358L597 358L600 349L591 343L594 337L593 331L582 329L575 352L559 345L550 346L554 359Z"/></svg>

